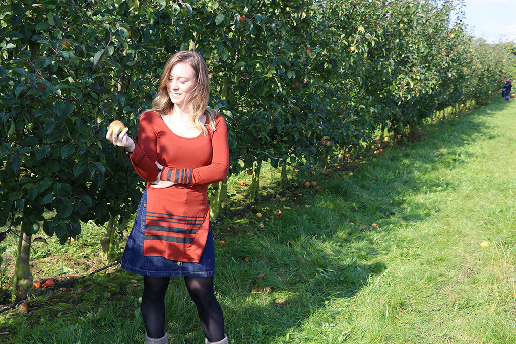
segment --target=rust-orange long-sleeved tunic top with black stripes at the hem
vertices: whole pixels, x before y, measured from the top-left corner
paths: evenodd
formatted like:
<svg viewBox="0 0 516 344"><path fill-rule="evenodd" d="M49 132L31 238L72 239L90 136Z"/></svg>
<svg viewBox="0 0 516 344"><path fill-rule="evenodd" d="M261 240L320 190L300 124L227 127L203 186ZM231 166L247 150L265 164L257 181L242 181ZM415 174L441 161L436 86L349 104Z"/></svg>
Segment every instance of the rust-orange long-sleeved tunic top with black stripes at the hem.
<svg viewBox="0 0 516 344"><path fill-rule="evenodd" d="M206 119L206 124L208 123ZM147 217L144 256L197 263L209 230L208 185L228 175L228 130L215 116L215 132L194 138L175 135L155 111L144 112L138 125L138 142L130 157L135 171L147 183ZM162 181L169 188L150 187L163 166Z"/></svg>

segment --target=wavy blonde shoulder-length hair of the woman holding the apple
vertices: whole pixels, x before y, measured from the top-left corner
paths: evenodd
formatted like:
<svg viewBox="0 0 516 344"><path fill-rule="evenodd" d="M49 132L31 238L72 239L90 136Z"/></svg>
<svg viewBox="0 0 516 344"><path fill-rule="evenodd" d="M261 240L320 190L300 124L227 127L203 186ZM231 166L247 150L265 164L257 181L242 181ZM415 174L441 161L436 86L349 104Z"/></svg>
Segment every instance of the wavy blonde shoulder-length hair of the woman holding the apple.
<svg viewBox="0 0 516 344"><path fill-rule="evenodd" d="M204 123L201 123L200 118L203 114L206 114L208 125L215 131L214 118L216 112L213 109L206 108L209 97L209 74L206 62L204 62L204 59L199 53L185 50L175 53L168 59L159 80L158 93L152 100L152 107L162 116L172 112L174 103L170 100L170 96L167 92L167 82L170 71L179 63L188 63L195 73L196 85L190 92L191 96L185 100L185 105L193 125L206 136L208 135L208 131Z"/></svg>

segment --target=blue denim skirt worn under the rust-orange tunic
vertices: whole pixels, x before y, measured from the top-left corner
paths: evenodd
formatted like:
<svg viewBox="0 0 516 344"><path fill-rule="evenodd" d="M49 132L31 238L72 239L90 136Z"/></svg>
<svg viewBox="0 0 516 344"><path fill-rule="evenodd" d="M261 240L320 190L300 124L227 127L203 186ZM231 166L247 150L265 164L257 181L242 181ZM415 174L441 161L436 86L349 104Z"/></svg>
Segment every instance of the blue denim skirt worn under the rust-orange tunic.
<svg viewBox="0 0 516 344"><path fill-rule="evenodd" d="M147 214L147 190L141 196L133 229L127 239L122 268L144 276L192 276L206 277L215 275L215 248L212 228L209 227L206 245L199 263L170 260L165 257L144 256L143 238Z"/></svg>

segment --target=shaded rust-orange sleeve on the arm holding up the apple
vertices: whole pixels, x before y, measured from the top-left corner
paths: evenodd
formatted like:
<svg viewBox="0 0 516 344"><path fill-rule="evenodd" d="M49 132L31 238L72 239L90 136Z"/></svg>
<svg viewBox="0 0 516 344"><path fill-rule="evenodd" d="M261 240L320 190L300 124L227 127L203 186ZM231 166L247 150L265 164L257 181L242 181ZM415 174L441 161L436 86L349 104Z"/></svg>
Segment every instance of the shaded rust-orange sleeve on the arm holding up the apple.
<svg viewBox="0 0 516 344"><path fill-rule="evenodd" d="M156 134L152 125L150 111L144 112L138 124L138 142L130 157L133 168L147 182L152 182L158 175L156 152Z"/></svg>

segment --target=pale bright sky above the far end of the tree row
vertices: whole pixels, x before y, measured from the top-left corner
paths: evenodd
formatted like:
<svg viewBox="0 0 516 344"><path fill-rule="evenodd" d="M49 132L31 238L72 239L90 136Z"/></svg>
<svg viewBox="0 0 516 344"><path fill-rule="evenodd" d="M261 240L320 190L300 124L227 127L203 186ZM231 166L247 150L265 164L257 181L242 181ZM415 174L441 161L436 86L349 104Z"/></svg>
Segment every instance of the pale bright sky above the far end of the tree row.
<svg viewBox="0 0 516 344"><path fill-rule="evenodd" d="M516 43L516 0L464 0L470 34L489 43Z"/></svg>

